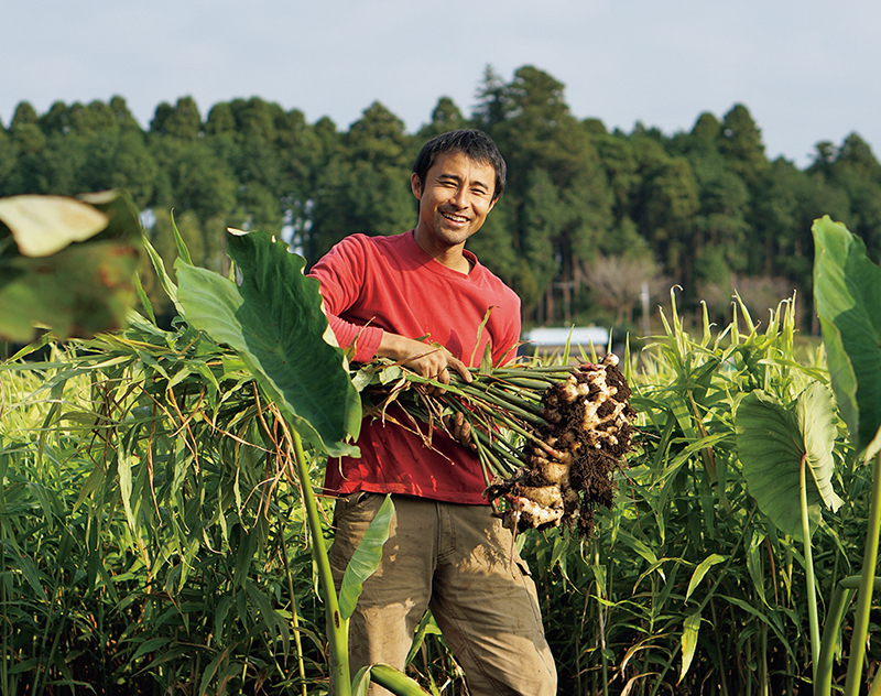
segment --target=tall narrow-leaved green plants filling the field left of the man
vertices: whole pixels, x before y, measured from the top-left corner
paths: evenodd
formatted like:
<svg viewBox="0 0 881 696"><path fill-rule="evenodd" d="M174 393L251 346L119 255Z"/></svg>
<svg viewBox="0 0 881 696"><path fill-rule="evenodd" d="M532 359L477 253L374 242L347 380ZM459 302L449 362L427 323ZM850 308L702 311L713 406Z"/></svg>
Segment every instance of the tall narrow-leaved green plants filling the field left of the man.
<svg viewBox="0 0 881 696"><path fill-rule="evenodd" d="M3 693L320 683L286 426L241 366L140 323L24 367L1 373Z"/></svg>

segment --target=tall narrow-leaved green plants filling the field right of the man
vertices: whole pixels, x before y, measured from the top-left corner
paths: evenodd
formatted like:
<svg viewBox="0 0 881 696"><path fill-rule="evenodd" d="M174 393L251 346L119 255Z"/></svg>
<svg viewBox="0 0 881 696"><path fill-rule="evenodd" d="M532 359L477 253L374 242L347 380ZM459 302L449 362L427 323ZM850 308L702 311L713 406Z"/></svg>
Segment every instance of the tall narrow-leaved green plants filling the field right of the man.
<svg viewBox="0 0 881 696"><path fill-rule="evenodd" d="M618 504L598 511L589 542L527 542L566 693L809 693L803 554L750 498L733 423L754 389L787 404L808 379L827 381L818 358L795 359L794 318L794 300L763 325L738 304L732 325L717 330L705 315L693 336L674 300L665 334L634 356L641 447ZM870 471L840 429L847 504L814 539L823 597L859 567L866 531Z"/></svg>

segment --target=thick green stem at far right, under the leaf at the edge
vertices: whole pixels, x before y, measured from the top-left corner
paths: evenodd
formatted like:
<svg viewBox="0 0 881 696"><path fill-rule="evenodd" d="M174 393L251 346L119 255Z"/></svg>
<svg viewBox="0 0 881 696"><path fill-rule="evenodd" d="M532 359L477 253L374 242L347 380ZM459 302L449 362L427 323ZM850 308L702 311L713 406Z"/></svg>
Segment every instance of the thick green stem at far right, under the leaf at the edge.
<svg viewBox="0 0 881 696"><path fill-rule="evenodd" d="M845 696L857 696L862 677L862 659L866 655L866 635L869 631L869 613L872 609L874 566L878 563L878 537L881 531L881 452L874 457L872 470L872 501L869 507L869 529L866 534L866 552L862 558L860 589L850 639L850 657L847 665Z"/></svg>

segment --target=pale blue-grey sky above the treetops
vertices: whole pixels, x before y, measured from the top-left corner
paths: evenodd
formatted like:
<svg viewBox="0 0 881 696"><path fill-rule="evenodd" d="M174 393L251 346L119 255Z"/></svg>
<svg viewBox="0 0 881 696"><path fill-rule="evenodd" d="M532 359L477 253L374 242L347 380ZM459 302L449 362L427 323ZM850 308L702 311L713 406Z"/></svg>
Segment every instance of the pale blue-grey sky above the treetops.
<svg viewBox="0 0 881 696"><path fill-rule="evenodd" d="M156 106L252 96L348 130L374 100L410 132L442 96L466 113L487 65L534 65L572 112L670 134L752 113L769 157L805 166L856 131L881 156L877 0L0 0L0 122L20 101Z"/></svg>

